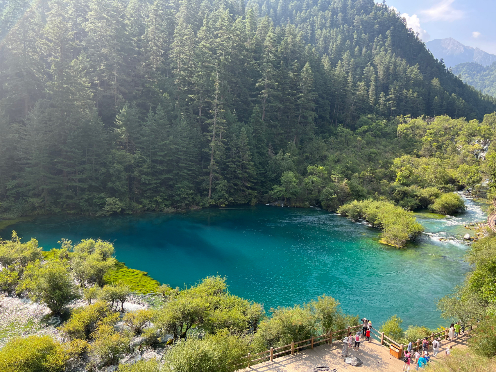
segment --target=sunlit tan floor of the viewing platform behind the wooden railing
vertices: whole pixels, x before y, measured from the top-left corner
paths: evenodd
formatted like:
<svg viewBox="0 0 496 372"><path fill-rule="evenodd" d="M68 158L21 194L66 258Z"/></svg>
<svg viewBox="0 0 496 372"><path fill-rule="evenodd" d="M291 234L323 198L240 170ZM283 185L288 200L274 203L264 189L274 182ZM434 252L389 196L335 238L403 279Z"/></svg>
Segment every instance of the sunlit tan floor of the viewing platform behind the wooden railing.
<svg viewBox="0 0 496 372"><path fill-rule="evenodd" d="M461 336L455 341L441 340L439 354L437 359L444 358L444 350L449 347L466 347L468 335ZM319 366L327 366L330 370L336 369L341 371L360 371L360 372L400 372L403 369L403 362L389 355L389 349L380 346L380 342L372 340L365 341L365 338L360 342L360 349L354 351L353 348L348 349L349 357L358 357L363 365L353 367L344 363L345 358L341 357L343 343L341 341L333 342L333 345L324 344L315 346L313 349L303 350L295 355L286 355L275 358L272 362L263 362L240 370L243 372L312 372L313 368ZM352 354L353 353L353 354ZM429 354L432 355L432 347ZM435 358L431 358L435 360ZM413 365L411 371L415 371Z"/></svg>

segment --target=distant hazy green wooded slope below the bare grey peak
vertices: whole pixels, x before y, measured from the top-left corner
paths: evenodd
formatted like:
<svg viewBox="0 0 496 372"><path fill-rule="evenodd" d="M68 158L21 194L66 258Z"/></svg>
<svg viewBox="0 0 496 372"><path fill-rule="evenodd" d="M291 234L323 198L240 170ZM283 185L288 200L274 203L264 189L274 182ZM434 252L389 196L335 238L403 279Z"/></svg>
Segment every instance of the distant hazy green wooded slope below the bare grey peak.
<svg viewBox="0 0 496 372"><path fill-rule="evenodd" d="M453 73L482 93L496 97L496 62L489 66L476 62L459 63L453 67Z"/></svg>

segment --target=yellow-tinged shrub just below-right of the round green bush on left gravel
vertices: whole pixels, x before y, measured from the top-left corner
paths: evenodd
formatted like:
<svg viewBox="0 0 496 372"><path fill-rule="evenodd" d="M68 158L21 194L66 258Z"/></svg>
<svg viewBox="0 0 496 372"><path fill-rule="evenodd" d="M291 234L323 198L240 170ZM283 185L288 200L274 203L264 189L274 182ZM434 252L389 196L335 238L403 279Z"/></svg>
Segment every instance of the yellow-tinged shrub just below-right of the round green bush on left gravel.
<svg viewBox="0 0 496 372"><path fill-rule="evenodd" d="M104 318L108 311L107 304L104 302L74 309L69 320L62 325L61 329L71 340L86 339L93 331L97 321Z"/></svg>

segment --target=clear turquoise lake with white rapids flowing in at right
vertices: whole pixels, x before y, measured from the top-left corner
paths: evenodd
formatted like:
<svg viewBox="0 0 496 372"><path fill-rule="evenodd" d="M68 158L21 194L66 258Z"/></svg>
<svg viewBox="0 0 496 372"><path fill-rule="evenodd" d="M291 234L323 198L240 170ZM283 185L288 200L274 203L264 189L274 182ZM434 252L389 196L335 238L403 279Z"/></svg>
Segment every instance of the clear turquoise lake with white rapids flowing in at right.
<svg viewBox="0 0 496 372"><path fill-rule="evenodd" d="M445 325L434 301L468 270L463 223L486 218L467 200L458 217L418 213L426 227L406 249L378 243L379 231L317 208L265 205L186 213L86 218L42 216L0 231L36 237L49 250L67 238L115 243L116 258L176 287L211 274L227 276L230 292L266 310L303 304L325 293L345 312L379 324L392 314L404 325ZM455 239L439 241L439 238Z"/></svg>

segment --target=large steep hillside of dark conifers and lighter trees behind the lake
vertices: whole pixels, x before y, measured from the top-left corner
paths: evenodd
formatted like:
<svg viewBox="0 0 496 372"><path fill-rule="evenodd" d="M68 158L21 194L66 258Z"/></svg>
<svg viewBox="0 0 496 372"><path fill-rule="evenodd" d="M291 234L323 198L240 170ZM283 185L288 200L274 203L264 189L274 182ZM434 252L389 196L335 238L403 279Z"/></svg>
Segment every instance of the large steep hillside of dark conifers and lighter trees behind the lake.
<svg viewBox="0 0 496 372"><path fill-rule="evenodd" d="M281 197L336 209L391 198L388 187L463 184L460 164L489 177L480 154L494 115L480 121L494 98L434 60L385 3L1 6L4 217ZM441 168L453 172L421 177Z"/></svg>

